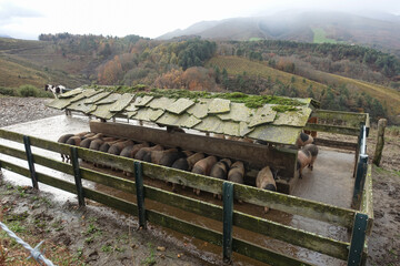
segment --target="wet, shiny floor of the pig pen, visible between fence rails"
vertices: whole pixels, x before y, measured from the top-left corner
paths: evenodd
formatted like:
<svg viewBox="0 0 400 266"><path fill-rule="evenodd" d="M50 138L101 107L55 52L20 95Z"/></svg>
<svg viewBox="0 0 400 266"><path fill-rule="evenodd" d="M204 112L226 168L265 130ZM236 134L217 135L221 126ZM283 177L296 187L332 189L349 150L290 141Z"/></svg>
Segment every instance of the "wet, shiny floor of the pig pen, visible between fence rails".
<svg viewBox="0 0 400 266"><path fill-rule="evenodd" d="M89 131L89 119L83 116L73 116L69 117L66 115L48 117L39 121L32 121L23 124L17 124L4 127L6 130L29 134L32 136L57 141L60 135L66 133L79 133L83 131ZM12 147L18 147L23 150L23 145L14 142L9 142L6 140L0 140L0 143L3 145L10 145ZM44 151L41 149L32 147L33 153L46 155L56 160L61 160L60 155L53 152ZM10 161L12 163L18 163L20 165L26 165L27 162L22 160L16 160L6 155L0 155L2 160ZM297 187L294 188L293 195L319 201L341 207L350 207L353 178L353 154L338 153L328 150L320 150L319 157L316 161L313 171L304 170L303 178L298 182ZM84 167L93 168L91 164L82 163ZM122 172L111 172L107 168L96 168L100 172L106 172L112 175L124 177ZM47 173L51 176L68 180L73 182L73 177L58 171L53 171L43 166L37 165L37 171ZM3 170L3 176L7 181L12 181L17 185L31 185L29 178L21 177L18 174L11 173ZM130 178L133 181L133 178ZM144 181L144 184L160 187L167 191L171 191L171 186L166 184L162 181L149 180ZM101 191L104 193L112 194L117 197L136 202L136 196L130 195L123 192L116 191L113 188L98 185L89 181L83 181L83 186ZM77 196L70 193L47 186L44 184L39 184L40 190L46 192L51 192L54 194L57 201L77 201ZM222 205L222 202L212 197L212 194L202 192L200 196L197 196L192 193L190 187L182 190L178 186L178 193L181 195L190 196L197 200L209 202L212 204ZM152 202L146 200L146 206L159 212L168 213L168 215L188 221L190 223L200 225L206 228L211 228L221 232L222 224L207 217L200 217L198 215L182 212L178 208L170 207L164 204ZM347 229L330 225L323 222L313 221L310 218L304 218L298 215L290 215L282 213L276 209L271 209L268 214L263 214L263 207L254 206L251 204L239 204L234 203L234 209L243 213L248 213L253 216L260 216L268 218L284 225L290 225L296 228L306 229L313 232L323 236L332 237L340 241L349 241L349 235ZM167 232L169 237L176 239L177 244L187 243L192 245L198 253L199 257L206 258L206 260L212 263L213 260L220 262L221 247L216 247L212 244L207 244L202 241L196 239L190 236L183 236L177 232L160 228L160 232ZM161 234L161 233L160 233ZM326 255L318 254L316 252L308 250L306 248L300 248L286 244L280 241L271 239L263 235L251 233L238 227L234 227L234 236L244 241L252 242L257 245L264 246L280 253L303 259L306 262L316 264L316 265L344 265L343 262L339 259L331 258ZM261 265L259 262L256 262L251 258L234 254L236 265Z"/></svg>

